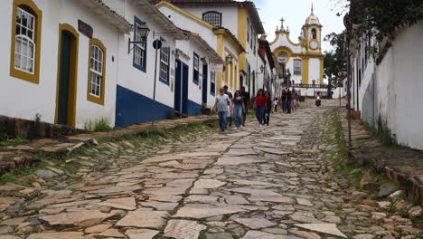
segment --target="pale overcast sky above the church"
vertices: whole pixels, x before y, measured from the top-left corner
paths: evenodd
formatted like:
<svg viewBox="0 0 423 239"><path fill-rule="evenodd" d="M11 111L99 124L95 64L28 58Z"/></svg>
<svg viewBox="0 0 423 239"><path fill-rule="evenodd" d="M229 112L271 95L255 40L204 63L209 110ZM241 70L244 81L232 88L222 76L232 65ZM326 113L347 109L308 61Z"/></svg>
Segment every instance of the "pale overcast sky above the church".
<svg viewBox="0 0 423 239"><path fill-rule="evenodd" d="M286 20L285 27L289 26L291 40L297 43L301 27L311 13L312 2L315 6L315 15L324 26L323 37L332 32L340 33L344 28L343 18L336 16L340 7L335 4L335 0L253 0L253 2L259 8L258 13L268 33L268 42L275 40L276 27L277 25L280 27L279 20L283 17ZM330 44L323 42L323 50L331 50Z"/></svg>

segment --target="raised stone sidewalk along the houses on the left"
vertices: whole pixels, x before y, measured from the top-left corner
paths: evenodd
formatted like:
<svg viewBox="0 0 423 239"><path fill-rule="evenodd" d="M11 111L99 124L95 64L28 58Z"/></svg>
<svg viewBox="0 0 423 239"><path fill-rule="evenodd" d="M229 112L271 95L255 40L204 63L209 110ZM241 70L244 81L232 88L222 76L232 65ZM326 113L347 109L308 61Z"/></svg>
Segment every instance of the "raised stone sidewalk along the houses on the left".
<svg viewBox="0 0 423 239"><path fill-rule="evenodd" d="M193 116L183 119L164 119L155 121L155 127L161 129L174 129L183 127L188 123L206 122L216 119L214 116ZM61 139L35 139L25 145L0 147L0 176L16 167L24 167L40 162L34 158L33 153L67 154L84 145L98 145L99 140L116 139L123 136L137 135L151 127L151 122L140 123L127 128L116 129L109 132L92 132Z"/></svg>

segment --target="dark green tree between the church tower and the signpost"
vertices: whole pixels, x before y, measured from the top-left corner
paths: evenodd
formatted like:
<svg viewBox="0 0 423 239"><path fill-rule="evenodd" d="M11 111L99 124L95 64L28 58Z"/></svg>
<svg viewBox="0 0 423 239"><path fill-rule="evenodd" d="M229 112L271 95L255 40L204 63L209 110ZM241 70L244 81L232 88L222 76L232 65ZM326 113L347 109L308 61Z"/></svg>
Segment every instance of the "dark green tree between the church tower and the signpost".
<svg viewBox="0 0 423 239"><path fill-rule="evenodd" d="M343 84L346 78L347 62L345 58L345 38L346 32L330 33L324 37L324 41L329 42L334 50L324 53L324 75L329 80L328 91Z"/></svg>

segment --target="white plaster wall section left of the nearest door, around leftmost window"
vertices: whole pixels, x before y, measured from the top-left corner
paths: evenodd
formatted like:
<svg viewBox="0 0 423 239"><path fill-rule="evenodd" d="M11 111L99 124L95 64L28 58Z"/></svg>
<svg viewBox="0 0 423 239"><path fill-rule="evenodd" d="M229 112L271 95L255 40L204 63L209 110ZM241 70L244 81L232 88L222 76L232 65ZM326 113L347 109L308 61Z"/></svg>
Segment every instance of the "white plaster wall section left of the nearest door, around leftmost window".
<svg viewBox="0 0 423 239"><path fill-rule="evenodd" d="M43 1L34 1L42 10L46 9ZM54 4L52 5L54 7ZM56 5L57 6L57 5ZM42 120L52 123L56 100L57 81L57 13L45 14L42 17L42 51L40 66L40 83L34 84L10 76L10 53L12 31L13 0L2 1L0 7L0 31L5 33L0 44L0 115L22 119L35 119L35 114L42 115ZM50 21L53 25L46 25ZM55 33L54 33L55 31ZM53 33L51 33L53 32ZM47 36L47 37L44 37ZM52 38L49 38L52 37ZM52 47L49 47L52 46ZM54 56L54 57L53 57ZM47 93L51 92L51 93Z"/></svg>

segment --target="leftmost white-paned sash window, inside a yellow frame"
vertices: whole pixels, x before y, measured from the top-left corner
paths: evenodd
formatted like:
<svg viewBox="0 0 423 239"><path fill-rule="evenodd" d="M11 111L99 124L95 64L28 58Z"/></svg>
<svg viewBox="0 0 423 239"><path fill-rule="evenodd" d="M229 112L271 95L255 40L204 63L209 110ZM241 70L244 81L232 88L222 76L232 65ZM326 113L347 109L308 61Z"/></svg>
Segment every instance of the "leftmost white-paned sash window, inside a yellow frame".
<svg viewBox="0 0 423 239"><path fill-rule="evenodd" d="M23 72L34 72L35 17L17 7L14 68Z"/></svg>

